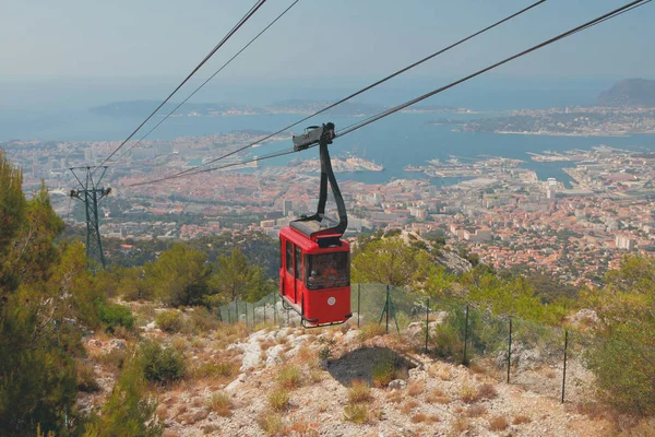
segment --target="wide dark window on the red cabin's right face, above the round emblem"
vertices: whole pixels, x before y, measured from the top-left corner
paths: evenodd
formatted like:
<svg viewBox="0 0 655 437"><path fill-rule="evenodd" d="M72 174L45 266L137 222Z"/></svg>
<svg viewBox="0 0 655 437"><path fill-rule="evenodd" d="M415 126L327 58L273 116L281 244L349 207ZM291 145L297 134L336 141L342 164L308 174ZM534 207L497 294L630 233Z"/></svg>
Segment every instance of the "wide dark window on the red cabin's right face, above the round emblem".
<svg viewBox="0 0 655 437"><path fill-rule="evenodd" d="M348 255L348 252L308 255L305 258L307 288L322 290L350 285Z"/></svg>

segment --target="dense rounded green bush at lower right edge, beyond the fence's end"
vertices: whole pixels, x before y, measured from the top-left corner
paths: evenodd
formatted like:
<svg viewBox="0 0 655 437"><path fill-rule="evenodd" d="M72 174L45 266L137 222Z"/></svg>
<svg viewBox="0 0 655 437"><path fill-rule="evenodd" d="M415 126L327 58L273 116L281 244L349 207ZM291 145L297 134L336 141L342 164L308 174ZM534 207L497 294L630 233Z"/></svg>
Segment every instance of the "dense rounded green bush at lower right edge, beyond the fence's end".
<svg viewBox="0 0 655 437"><path fill-rule="evenodd" d="M653 332L654 322L626 323L587 352L602 399L622 413L655 414Z"/></svg>

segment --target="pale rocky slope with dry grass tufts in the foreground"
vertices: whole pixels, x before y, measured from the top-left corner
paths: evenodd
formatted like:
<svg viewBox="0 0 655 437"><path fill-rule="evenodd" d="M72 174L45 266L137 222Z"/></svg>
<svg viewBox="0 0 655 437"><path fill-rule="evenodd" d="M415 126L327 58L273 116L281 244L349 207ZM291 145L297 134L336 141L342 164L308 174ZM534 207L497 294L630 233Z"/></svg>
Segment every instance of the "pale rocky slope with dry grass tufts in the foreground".
<svg viewBox="0 0 655 437"><path fill-rule="evenodd" d="M591 399L583 386L571 383L577 392L559 402L556 368L525 369L508 385L491 359L471 368L452 365L415 352L412 335L384 335L377 326L252 331L231 324L168 334L147 322L141 338L160 339L183 351L189 363L183 380L152 388L166 436L612 433L607 420L581 413ZM106 334L86 340L100 390L84 393L81 408L103 404L118 375L116 356L135 341ZM380 377L384 363L392 369L386 379ZM370 389L357 394L354 383Z"/></svg>

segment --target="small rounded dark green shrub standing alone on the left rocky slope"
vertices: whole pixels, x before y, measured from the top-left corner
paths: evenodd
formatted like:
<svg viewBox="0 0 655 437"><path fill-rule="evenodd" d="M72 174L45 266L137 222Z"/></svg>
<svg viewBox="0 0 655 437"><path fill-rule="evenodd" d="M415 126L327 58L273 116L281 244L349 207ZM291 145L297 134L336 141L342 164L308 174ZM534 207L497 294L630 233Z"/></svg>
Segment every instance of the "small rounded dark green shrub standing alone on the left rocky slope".
<svg viewBox="0 0 655 437"><path fill-rule="evenodd" d="M146 340L141 344L140 355L148 381L171 382L184 376L184 356L174 347L163 347L159 342Z"/></svg>

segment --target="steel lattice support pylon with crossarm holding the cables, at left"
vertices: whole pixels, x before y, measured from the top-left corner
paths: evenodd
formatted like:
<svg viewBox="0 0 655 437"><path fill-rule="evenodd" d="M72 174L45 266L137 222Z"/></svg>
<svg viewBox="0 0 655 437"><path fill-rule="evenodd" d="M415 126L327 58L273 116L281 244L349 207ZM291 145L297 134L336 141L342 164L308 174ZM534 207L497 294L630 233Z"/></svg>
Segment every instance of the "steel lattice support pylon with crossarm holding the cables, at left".
<svg viewBox="0 0 655 437"><path fill-rule="evenodd" d="M100 182L107 172L107 166L100 167L103 173L97 181L93 178L94 167L72 167L72 172L80 188L71 190L71 198L75 198L84 203L86 213L86 268L93 272L105 268L105 253L103 252L103 243L100 240L98 202L109 196L111 188L103 188L97 185ZM81 178L75 170L86 170L86 175Z"/></svg>

